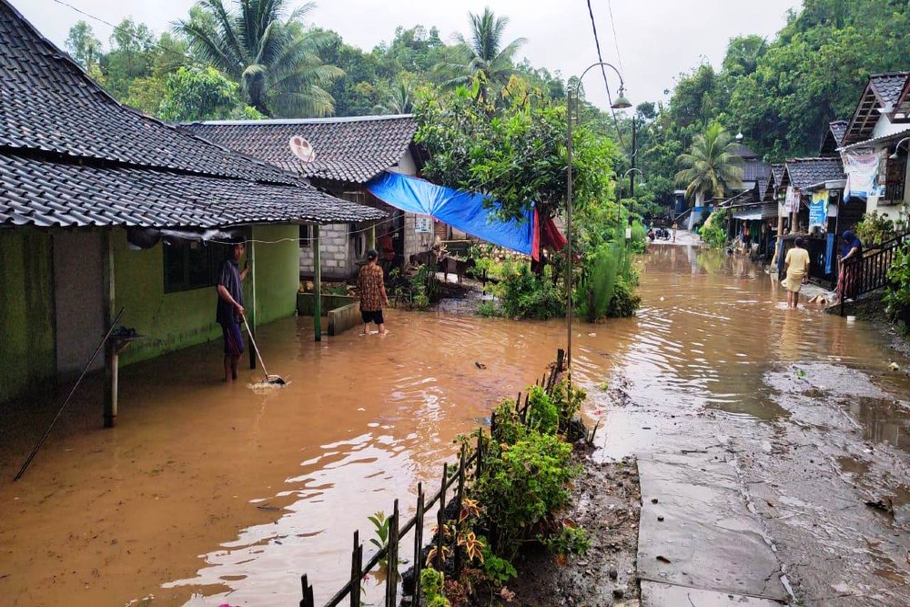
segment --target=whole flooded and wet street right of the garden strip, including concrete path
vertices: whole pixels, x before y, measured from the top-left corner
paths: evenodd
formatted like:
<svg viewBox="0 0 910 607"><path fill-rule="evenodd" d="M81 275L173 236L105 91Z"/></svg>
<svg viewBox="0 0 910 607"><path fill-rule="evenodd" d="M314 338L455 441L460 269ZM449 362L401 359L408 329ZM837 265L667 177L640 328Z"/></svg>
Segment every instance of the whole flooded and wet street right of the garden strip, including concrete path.
<svg viewBox="0 0 910 607"><path fill-rule="evenodd" d="M662 248L649 291L638 339L591 382L601 456L640 460L642 605L686 604L672 602L685 589L704 604L910 604L908 361L871 325L784 309L735 256ZM584 346L576 365L594 365Z"/></svg>

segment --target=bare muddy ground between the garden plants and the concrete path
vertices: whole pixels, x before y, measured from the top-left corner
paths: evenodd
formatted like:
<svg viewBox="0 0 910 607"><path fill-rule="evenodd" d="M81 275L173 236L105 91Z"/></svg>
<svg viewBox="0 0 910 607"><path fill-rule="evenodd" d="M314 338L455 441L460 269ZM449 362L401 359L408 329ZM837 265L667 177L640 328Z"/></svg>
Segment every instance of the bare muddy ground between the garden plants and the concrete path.
<svg viewBox="0 0 910 607"><path fill-rule="evenodd" d="M575 481L569 518L588 533L591 549L567 559L542 549L522 553L515 567L512 605L522 607L632 607L638 605L635 573L638 524L642 509L638 466L632 458L591 460L591 450L576 450L583 464Z"/></svg>

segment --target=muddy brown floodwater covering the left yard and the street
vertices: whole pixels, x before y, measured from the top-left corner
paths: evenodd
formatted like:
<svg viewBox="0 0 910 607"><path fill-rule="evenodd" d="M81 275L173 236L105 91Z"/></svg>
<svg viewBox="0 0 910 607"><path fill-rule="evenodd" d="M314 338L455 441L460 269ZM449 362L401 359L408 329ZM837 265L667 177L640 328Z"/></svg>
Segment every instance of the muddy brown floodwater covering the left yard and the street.
<svg viewBox="0 0 910 607"><path fill-rule="evenodd" d="M742 258L662 247L639 269L636 318L575 325L575 377L591 391L622 376L635 398L759 424L787 416L762 380L782 362L835 362L910 391L888 370L908 361L888 355L878 330L786 311L783 290ZM560 321L392 310L387 338L354 331L320 344L310 324L259 330L283 389L250 389L248 370L221 384L220 345L207 344L122 369L117 427L102 430L90 380L16 483L66 392L6 406L0 603L296 604L303 572L325 600L349 570L351 532L371 537L367 515L395 499L410 511L453 440L539 378L565 342ZM634 450L622 418L590 403L591 420L610 424L605 455ZM854 406L870 440L905 446L903 408Z"/></svg>

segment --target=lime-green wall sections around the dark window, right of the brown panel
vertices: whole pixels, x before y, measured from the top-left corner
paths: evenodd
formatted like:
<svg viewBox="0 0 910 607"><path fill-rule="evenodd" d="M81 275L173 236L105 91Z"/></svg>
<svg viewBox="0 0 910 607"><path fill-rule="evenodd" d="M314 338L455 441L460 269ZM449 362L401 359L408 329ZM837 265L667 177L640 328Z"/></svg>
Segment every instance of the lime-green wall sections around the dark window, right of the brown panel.
<svg viewBox="0 0 910 607"><path fill-rule="evenodd" d="M152 359L166 352L187 348L210 339L220 339L215 322L215 288L164 292L164 254L161 245L144 250L126 246L126 232L113 235L116 258L115 312L124 307L121 324L147 336L132 343L120 360L129 364ZM288 238L288 242L274 241ZM292 316L297 306L299 252L297 226L253 228L256 269L256 324ZM241 260L241 267L243 260ZM253 279L244 281L244 303L253 309ZM248 311L248 319L250 318Z"/></svg>

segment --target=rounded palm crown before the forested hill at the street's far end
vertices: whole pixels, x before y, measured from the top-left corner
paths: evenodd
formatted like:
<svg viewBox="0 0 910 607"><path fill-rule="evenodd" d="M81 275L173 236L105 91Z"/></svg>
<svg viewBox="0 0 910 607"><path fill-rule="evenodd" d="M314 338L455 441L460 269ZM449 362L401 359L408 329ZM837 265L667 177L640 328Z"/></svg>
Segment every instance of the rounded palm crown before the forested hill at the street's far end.
<svg viewBox="0 0 910 607"><path fill-rule="evenodd" d="M723 126L713 122L693 138L689 152L676 159L683 167L676 174L676 183L685 186L686 198L694 198L696 207L706 194L720 198L741 185L743 158L735 154L738 147Z"/></svg>

